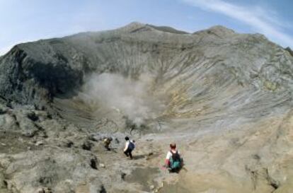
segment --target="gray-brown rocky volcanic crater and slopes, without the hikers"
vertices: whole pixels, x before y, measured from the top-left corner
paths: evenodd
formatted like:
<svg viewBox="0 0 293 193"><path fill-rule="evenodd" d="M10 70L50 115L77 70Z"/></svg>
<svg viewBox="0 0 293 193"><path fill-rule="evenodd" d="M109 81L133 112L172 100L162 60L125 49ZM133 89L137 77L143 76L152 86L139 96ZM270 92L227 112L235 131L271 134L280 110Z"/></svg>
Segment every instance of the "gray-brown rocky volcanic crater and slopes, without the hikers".
<svg viewBox="0 0 293 193"><path fill-rule="evenodd" d="M289 192L292 64L263 35L222 26L131 23L16 45L0 58L1 191ZM160 166L171 141L178 175Z"/></svg>

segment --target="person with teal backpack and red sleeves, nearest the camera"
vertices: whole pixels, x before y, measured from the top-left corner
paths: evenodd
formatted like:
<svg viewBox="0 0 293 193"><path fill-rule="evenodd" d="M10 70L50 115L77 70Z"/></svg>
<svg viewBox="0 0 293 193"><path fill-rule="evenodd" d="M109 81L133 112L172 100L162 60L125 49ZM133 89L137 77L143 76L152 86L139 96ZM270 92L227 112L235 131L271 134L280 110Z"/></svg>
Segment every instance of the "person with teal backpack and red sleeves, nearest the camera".
<svg viewBox="0 0 293 193"><path fill-rule="evenodd" d="M165 166L170 172L178 172L183 166L183 159L180 158L180 153L176 149L176 144L170 144L170 151L168 151Z"/></svg>

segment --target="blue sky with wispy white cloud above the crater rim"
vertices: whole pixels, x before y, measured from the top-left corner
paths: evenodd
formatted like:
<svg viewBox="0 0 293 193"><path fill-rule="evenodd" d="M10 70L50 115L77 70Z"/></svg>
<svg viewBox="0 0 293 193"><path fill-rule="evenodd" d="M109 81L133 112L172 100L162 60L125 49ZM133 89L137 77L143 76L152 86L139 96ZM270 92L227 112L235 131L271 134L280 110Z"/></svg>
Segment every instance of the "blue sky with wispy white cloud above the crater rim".
<svg viewBox="0 0 293 193"><path fill-rule="evenodd" d="M132 21L195 32L224 25L293 47L291 0L0 0L0 55L13 45Z"/></svg>

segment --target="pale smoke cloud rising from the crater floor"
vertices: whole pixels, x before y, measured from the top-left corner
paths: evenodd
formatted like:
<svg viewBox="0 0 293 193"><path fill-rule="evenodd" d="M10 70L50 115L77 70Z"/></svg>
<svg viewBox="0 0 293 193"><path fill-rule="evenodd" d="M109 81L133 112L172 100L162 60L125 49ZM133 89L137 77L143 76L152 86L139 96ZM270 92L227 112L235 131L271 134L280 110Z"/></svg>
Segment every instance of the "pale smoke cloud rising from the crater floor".
<svg viewBox="0 0 293 193"><path fill-rule="evenodd" d="M146 119L154 119L162 108L148 91L150 83L146 75L134 81L118 74L93 74L79 96L99 115L116 111L140 125Z"/></svg>

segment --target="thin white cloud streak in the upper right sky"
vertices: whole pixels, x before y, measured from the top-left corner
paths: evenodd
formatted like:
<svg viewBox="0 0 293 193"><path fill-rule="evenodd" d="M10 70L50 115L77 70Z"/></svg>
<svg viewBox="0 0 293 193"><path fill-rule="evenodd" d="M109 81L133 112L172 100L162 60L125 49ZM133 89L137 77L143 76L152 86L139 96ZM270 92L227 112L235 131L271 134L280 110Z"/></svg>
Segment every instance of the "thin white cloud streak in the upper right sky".
<svg viewBox="0 0 293 193"><path fill-rule="evenodd" d="M282 27L286 27L287 23L278 20L276 13L273 11L268 13L268 11L260 8L259 6L239 6L222 0L181 1L190 4L191 6L201 8L205 11L222 13L225 16L229 16L250 25L259 33L263 33L271 40L274 40L283 46L293 47L293 37L282 32Z"/></svg>

